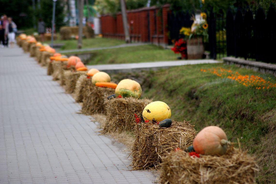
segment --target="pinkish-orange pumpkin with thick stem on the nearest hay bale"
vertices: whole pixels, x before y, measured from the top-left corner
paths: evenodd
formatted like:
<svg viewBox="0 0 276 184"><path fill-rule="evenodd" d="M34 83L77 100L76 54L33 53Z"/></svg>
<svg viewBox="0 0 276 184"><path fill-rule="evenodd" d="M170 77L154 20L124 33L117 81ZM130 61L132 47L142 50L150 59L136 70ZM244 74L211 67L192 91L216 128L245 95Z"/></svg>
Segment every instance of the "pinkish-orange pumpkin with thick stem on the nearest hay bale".
<svg viewBox="0 0 276 184"><path fill-rule="evenodd" d="M203 128L195 136L193 149L198 154L221 156L226 153L229 144L230 142L227 141L226 134L221 128L209 126Z"/></svg>

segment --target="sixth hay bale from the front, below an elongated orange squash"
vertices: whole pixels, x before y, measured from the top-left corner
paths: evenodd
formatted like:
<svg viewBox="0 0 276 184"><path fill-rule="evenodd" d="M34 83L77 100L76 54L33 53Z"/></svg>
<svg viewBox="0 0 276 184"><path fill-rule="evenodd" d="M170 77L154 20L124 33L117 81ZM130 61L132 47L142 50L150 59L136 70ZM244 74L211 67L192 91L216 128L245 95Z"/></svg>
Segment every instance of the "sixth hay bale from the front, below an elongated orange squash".
<svg viewBox="0 0 276 184"><path fill-rule="evenodd" d="M64 76L65 76L65 92L66 93L73 93L76 88L76 83L81 75L85 75L86 72L84 71L65 71Z"/></svg>

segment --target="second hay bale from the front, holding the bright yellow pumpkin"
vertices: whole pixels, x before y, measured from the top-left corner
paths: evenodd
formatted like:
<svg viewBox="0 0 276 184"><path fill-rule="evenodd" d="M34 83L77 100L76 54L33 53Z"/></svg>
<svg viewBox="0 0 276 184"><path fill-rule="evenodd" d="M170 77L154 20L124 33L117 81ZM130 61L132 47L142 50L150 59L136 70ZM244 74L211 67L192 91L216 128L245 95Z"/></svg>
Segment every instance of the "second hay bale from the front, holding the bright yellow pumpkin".
<svg viewBox="0 0 276 184"><path fill-rule="evenodd" d="M165 154L175 148L185 149L193 144L196 135L189 122L172 121L169 128L160 128L156 123L136 125L135 141L131 158L134 169L158 168Z"/></svg>

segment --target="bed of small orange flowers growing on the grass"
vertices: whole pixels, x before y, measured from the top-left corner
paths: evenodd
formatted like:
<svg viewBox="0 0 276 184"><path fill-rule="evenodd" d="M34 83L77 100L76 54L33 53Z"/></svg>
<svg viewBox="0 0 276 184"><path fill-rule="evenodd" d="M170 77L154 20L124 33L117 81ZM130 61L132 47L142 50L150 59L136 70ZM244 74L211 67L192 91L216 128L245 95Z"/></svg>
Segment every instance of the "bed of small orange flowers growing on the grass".
<svg viewBox="0 0 276 184"><path fill-rule="evenodd" d="M276 83L271 83L270 81L266 81L264 78L259 77L257 75L241 75L238 72L233 73L232 70L224 69L224 68L213 68L213 69L201 69L201 72L210 72L214 75L217 75L221 78L229 78L231 80L237 81L238 83L248 87L253 86L256 87L257 90L261 89L269 89L276 88Z"/></svg>

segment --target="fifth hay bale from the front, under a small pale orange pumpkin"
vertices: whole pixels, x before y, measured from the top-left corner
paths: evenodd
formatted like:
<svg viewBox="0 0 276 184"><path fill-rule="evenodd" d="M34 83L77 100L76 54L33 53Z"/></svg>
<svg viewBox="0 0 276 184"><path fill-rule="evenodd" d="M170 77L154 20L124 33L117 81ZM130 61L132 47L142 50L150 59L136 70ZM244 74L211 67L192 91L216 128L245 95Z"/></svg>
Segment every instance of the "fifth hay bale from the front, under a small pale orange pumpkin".
<svg viewBox="0 0 276 184"><path fill-rule="evenodd" d="M91 78L87 78L86 75L82 75L79 77L76 88L75 88L75 100L76 102L83 102L85 92L87 91L87 88L92 85Z"/></svg>

